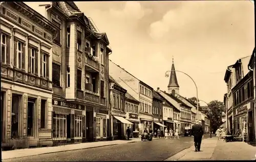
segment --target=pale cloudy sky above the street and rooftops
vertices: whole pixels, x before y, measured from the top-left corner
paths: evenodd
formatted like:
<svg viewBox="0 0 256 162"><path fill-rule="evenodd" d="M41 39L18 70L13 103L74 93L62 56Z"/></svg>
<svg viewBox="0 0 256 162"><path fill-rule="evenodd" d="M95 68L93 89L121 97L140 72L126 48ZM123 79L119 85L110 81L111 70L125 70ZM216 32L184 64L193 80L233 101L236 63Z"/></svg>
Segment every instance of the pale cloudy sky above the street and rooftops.
<svg viewBox="0 0 256 162"><path fill-rule="evenodd" d="M250 1L75 2L109 38L110 60L167 91L172 67L198 98L223 101L227 66L254 48ZM180 95L196 96L177 72ZM204 103L202 103L204 105Z"/></svg>

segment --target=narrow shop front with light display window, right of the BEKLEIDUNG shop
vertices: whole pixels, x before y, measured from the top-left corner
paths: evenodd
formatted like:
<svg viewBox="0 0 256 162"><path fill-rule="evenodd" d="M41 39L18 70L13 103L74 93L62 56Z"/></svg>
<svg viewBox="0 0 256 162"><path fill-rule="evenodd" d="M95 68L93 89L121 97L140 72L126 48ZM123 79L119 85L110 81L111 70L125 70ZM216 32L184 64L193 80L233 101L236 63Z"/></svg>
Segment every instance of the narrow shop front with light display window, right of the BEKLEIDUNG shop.
<svg viewBox="0 0 256 162"><path fill-rule="evenodd" d="M94 107L94 141L106 141L109 137L109 111Z"/></svg>

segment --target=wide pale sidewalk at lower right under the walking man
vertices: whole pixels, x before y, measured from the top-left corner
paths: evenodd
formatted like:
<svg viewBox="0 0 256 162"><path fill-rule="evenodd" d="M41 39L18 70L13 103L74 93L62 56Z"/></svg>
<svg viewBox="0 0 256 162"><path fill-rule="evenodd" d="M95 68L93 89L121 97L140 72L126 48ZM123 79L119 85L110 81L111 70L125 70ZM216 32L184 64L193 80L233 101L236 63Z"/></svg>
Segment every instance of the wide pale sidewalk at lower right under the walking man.
<svg viewBox="0 0 256 162"><path fill-rule="evenodd" d="M223 142L214 137L202 141L200 152L195 152L193 145L166 160L251 160L255 153L256 147L245 142Z"/></svg>

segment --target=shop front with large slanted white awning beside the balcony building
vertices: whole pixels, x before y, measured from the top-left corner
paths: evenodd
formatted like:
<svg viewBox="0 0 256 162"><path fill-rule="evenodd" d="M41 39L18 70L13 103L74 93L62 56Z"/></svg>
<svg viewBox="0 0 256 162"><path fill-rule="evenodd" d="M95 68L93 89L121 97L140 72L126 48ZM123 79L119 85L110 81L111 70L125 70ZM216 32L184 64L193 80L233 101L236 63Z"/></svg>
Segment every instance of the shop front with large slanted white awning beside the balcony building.
<svg viewBox="0 0 256 162"><path fill-rule="evenodd" d="M133 127L133 123L125 119L124 113L112 112L112 115L114 117L113 118L113 139L114 140L125 139L126 129L128 126L131 129Z"/></svg>

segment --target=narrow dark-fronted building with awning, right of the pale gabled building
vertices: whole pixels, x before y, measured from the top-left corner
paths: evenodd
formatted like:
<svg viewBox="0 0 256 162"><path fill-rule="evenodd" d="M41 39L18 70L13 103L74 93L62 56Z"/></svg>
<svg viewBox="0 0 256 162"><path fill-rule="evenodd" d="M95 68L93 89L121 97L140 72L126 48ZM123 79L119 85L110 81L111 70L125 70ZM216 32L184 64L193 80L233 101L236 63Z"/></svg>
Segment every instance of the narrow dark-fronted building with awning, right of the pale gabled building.
<svg viewBox="0 0 256 162"><path fill-rule="evenodd" d="M155 90L153 90L153 120L154 120L154 132L157 132L157 130L164 130L163 127L165 127L163 123L163 102L165 101L164 98L162 98ZM170 108L172 110L172 108ZM172 118L171 114L173 112L169 111L170 117ZM171 120L172 121L172 120ZM169 129L168 129L169 130Z"/></svg>

